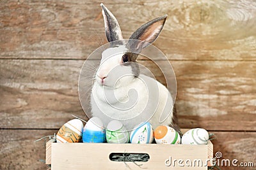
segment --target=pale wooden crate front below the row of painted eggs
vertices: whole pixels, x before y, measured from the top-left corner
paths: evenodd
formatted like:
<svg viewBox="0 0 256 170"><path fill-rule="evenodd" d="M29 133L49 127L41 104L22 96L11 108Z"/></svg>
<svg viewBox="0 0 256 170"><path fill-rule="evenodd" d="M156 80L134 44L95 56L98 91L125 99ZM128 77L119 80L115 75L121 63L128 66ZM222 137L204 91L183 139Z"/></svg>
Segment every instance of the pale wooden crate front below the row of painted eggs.
<svg viewBox="0 0 256 170"><path fill-rule="evenodd" d="M150 159L138 167L134 162L115 162L109 159L111 153L147 153ZM175 166L167 159L175 162ZM46 164L51 164L52 170L56 169L207 169L211 166L203 164L213 157L211 141L207 145L160 145L160 144L111 144L111 143L47 143ZM176 161L174 160L176 159ZM178 160L183 166L178 165ZM186 161L191 160L196 166L186 166ZM189 163L189 162L187 162Z"/></svg>

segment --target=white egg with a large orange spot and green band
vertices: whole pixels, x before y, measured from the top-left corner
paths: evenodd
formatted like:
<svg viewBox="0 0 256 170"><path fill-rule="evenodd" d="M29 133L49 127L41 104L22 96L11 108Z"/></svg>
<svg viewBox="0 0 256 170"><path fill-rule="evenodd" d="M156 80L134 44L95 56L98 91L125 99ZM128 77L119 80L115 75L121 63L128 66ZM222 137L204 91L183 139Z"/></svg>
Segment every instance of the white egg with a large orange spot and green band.
<svg viewBox="0 0 256 170"><path fill-rule="evenodd" d="M156 143L179 144L180 135L172 127L160 125L154 130Z"/></svg>

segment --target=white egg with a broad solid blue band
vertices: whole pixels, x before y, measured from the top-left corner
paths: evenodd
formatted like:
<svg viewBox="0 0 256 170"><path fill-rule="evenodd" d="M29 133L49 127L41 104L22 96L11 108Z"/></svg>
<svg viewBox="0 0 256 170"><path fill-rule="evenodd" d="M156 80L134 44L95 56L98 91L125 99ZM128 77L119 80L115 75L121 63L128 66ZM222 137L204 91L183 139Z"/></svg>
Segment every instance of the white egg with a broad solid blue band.
<svg viewBox="0 0 256 170"><path fill-rule="evenodd" d="M102 121L97 117L92 117L83 129L83 143L103 143L105 138L105 128Z"/></svg>

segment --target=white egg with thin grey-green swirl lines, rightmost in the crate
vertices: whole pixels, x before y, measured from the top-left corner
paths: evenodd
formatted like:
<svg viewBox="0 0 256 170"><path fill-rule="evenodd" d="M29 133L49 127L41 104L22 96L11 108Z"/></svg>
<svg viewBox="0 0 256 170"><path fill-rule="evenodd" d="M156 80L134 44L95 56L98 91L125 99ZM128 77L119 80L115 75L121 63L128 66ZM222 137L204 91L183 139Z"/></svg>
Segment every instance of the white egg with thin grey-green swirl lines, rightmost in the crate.
<svg viewBox="0 0 256 170"><path fill-rule="evenodd" d="M209 139L209 133L202 128L190 129L184 133L181 143L185 145L206 145Z"/></svg>

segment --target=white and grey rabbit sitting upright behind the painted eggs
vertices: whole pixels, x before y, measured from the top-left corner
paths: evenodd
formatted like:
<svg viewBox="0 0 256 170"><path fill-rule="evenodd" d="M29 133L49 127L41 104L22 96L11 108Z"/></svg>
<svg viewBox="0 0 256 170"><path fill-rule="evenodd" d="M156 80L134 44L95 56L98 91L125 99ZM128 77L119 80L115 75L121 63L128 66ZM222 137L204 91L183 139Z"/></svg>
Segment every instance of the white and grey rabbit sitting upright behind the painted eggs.
<svg viewBox="0 0 256 170"><path fill-rule="evenodd" d="M90 99L92 116L99 117L105 127L111 120L120 120L128 131L147 121L153 128L170 125L179 130L170 92L159 81L141 74L136 61L138 53L159 36L167 15L142 25L125 43L114 15L104 4L100 6L106 37L111 45L102 52L94 76Z"/></svg>

